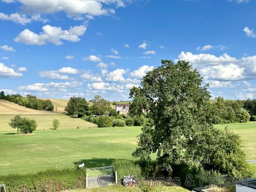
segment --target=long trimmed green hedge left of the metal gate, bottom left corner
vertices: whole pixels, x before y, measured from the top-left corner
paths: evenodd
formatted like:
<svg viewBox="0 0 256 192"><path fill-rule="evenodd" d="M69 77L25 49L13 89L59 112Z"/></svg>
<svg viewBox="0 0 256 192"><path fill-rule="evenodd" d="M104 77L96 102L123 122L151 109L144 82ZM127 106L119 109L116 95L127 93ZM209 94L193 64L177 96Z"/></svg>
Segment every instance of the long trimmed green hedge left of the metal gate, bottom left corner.
<svg viewBox="0 0 256 192"><path fill-rule="evenodd" d="M47 191L48 182L51 183L52 192L74 188L85 188L86 169L48 170L36 174L0 176L0 183L4 183L7 191L16 192L44 192Z"/></svg>

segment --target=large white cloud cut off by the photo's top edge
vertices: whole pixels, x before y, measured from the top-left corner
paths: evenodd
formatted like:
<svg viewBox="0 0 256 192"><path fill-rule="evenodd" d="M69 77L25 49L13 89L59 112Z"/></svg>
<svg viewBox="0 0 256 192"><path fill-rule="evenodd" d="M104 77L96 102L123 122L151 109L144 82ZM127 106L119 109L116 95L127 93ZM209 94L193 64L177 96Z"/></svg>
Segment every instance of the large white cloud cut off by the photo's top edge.
<svg viewBox="0 0 256 192"><path fill-rule="evenodd" d="M3 1L3 0L2 0ZM12 0L4 0L6 3L13 2ZM68 17L75 19L83 19L84 17L93 18L93 16L113 14L114 10L110 9L110 5L116 7L124 7L125 3L131 1L126 0L17 0L22 4L22 10L25 13L42 13L52 14L57 12L65 12ZM106 6L106 7L104 7Z"/></svg>

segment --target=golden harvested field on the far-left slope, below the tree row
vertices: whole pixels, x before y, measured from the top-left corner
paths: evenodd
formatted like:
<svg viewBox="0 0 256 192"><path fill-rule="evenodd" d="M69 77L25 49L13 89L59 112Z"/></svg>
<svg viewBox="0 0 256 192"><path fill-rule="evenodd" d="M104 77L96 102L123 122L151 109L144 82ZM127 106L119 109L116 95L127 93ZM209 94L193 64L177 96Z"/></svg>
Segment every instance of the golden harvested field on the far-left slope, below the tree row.
<svg viewBox="0 0 256 192"><path fill-rule="evenodd" d="M9 102L4 99L0 99L0 114L49 114L52 112L37 111L25 106L20 106L16 103Z"/></svg>

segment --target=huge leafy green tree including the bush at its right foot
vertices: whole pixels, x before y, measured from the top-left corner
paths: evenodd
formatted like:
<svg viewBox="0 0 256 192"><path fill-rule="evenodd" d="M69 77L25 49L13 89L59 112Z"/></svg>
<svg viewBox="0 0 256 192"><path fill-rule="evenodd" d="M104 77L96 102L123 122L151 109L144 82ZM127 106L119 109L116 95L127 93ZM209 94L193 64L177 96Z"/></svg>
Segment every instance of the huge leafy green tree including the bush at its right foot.
<svg viewBox="0 0 256 192"><path fill-rule="evenodd" d="M138 90L132 89L131 98L136 100L139 96L140 100L143 99L143 104L148 106L147 115L153 118L154 124L146 124L142 128L133 156L150 160L151 154L156 153L159 167L168 174L176 165L186 164L232 175L232 170L223 167L223 162L227 161L225 163L231 164L230 167L236 167L236 176L243 175L246 162L240 158L244 157L240 142L225 141L229 147L218 143L224 140L220 136L228 138L228 135L213 126L218 111L209 103L207 87L207 84L202 86L199 72L186 61L175 64L162 60L160 67L148 72ZM208 149L212 151L211 155ZM216 159L212 163L216 153L229 159ZM232 158L240 158L243 166L231 161L231 154Z"/></svg>

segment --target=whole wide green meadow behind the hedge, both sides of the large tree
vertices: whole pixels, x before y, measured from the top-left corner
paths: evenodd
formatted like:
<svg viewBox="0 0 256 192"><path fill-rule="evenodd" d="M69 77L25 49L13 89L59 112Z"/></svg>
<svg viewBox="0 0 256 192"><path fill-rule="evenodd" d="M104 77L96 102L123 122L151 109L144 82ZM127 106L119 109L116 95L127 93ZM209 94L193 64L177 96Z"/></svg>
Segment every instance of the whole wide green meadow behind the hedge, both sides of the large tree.
<svg viewBox="0 0 256 192"><path fill-rule="evenodd" d="M56 165L61 169L81 162L87 167L104 166L114 159L132 159L136 136L141 132L140 127L85 129L95 125L61 114L23 116L35 119L41 131L17 135L7 124L11 115L0 115L0 151L4 157L0 158L1 175L35 173ZM50 130L57 117L59 129ZM216 126L223 129L226 125ZM230 127L241 135L247 159L256 159L256 122L230 124Z"/></svg>

